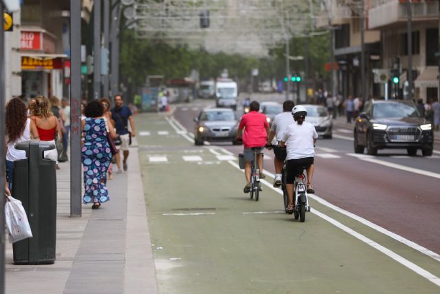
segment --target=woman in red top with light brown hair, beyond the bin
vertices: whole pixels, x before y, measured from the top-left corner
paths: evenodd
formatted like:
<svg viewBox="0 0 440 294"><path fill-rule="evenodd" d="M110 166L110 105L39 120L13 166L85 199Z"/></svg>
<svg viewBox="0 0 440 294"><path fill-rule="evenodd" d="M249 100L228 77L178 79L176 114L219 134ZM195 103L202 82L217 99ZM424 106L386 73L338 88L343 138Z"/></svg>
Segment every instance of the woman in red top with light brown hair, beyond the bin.
<svg viewBox="0 0 440 294"><path fill-rule="evenodd" d="M55 144L56 132L58 132L58 138L62 140L63 134L61 134L60 122L50 111L50 103L45 96L36 96L34 103L30 104L30 113L32 115L30 119L34 121L41 141ZM44 151L44 157L54 160L56 169L60 169L56 148Z"/></svg>

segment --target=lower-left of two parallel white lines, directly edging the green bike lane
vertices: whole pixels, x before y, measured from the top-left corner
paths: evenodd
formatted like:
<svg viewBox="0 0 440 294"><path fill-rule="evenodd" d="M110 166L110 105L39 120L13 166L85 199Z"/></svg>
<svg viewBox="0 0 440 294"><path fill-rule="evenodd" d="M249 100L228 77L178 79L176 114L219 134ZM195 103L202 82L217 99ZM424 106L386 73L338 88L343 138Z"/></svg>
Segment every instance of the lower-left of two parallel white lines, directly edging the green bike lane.
<svg viewBox="0 0 440 294"><path fill-rule="evenodd" d="M236 167L236 169L240 169L239 165L237 165L236 162L233 162L233 161L228 161L228 162L233 167ZM262 182L263 182L263 184L267 185L266 181L263 180ZM280 194L283 193L279 189L275 189L274 187L272 187L272 185L267 185L267 187L270 187L271 189L273 189L277 193L280 193ZM331 224L338 227L339 229L342 229L342 231L345 231L346 233L353 235L353 237L357 238L358 240L368 244L369 246L372 246L377 251L384 253L385 255L392 258L393 260L406 266L411 271L414 271L418 275L421 275L421 277L424 277L427 280L429 280L430 282L436 284L437 286L440 286L440 278L439 277L437 277L436 275L432 275L432 273L426 271L425 269L422 269L420 266L417 266L417 264L414 264L414 263L410 262L409 260L406 260L401 255L398 255L397 253L394 253L393 251L378 244L377 242L374 242L373 240L366 238L364 235L354 231L353 229L350 229L349 227L345 226L344 224L338 222L337 220L334 220L333 218L330 218L329 216L325 215L324 213L321 213L320 211L317 211L316 209L312 208L311 213L314 213L316 216L322 218L323 220L327 220L327 222L330 222Z"/></svg>

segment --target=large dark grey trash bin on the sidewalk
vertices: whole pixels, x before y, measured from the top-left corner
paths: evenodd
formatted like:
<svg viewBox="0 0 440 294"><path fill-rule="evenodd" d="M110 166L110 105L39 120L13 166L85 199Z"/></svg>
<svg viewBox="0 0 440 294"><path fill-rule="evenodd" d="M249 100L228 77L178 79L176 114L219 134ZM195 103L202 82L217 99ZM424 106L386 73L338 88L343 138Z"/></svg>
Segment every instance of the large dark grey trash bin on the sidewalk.
<svg viewBox="0 0 440 294"><path fill-rule="evenodd" d="M44 159L53 143L30 140L15 145L26 159L14 162L12 193L28 215L33 238L12 244L14 264L53 264L56 245L56 162Z"/></svg>

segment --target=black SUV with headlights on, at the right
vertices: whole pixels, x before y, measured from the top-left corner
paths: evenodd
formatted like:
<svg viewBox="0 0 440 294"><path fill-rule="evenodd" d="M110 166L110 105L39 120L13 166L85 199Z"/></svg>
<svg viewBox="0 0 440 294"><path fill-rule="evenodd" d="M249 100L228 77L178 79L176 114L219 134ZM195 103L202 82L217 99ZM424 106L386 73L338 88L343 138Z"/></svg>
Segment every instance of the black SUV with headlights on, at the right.
<svg viewBox="0 0 440 294"><path fill-rule="evenodd" d="M431 156L434 132L431 123L421 117L410 101L369 101L355 123L355 153L376 155L377 149L404 148L415 156Z"/></svg>

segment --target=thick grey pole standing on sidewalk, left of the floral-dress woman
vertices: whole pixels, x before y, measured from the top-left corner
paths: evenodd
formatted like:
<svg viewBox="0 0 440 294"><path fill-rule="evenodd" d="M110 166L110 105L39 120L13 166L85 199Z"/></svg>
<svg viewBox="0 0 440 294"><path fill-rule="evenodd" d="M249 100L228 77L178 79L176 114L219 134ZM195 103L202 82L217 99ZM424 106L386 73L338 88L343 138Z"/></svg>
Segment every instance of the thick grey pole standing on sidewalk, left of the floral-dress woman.
<svg viewBox="0 0 440 294"><path fill-rule="evenodd" d="M81 3L70 0L70 217L81 217Z"/></svg>

